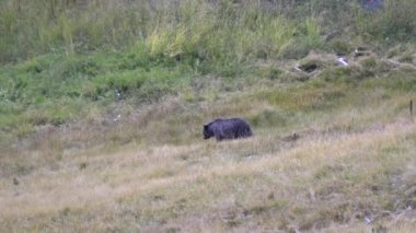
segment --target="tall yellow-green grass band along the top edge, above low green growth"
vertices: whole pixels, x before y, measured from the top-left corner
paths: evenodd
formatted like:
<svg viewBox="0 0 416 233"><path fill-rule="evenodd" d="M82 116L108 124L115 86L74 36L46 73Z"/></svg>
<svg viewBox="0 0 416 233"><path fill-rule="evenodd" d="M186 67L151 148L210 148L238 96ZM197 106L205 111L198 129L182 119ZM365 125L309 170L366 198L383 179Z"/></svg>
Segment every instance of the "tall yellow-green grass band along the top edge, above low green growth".
<svg viewBox="0 0 416 233"><path fill-rule="evenodd" d="M357 33L369 32L374 38L411 39L414 5L415 0L386 1L384 10L365 13L358 1L339 0L3 0L0 62L50 51L71 55L127 48L138 42L147 42L152 55L170 57L236 61L273 57L293 34L302 35L302 25L310 27L305 22L311 19L324 31L350 31L356 25Z"/></svg>

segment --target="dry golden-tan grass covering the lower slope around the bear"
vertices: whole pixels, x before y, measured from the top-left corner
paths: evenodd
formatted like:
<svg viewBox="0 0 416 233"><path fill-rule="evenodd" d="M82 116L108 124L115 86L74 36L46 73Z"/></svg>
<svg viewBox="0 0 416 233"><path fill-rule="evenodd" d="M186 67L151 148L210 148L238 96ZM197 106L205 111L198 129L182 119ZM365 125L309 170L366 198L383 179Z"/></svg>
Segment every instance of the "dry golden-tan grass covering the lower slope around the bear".
<svg viewBox="0 0 416 233"><path fill-rule="evenodd" d="M33 151L1 156L15 167L0 177L0 231L412 232L416 123L406 104L415 95L296 90L197 107L166 100L118 125L46 130ZM201 124L226 113L256 119L255 137L199 139ZM132 139L117 145L100 132ZM65 143L77 138L106 144Z"/></svg>

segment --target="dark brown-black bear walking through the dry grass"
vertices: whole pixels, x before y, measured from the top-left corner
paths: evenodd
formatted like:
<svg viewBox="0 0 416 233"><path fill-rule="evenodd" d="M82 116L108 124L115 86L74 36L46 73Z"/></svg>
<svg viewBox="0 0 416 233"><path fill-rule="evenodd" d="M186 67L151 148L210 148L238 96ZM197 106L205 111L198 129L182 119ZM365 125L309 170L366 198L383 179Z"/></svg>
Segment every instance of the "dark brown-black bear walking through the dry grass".
<svg viewBox="0 0 416 233"><path fill-rule="evenodd" d="M204 139L216 137L217 141L224 139L247 138L253 136L250 125L240 118L215 119L204 125Z"/></svg>

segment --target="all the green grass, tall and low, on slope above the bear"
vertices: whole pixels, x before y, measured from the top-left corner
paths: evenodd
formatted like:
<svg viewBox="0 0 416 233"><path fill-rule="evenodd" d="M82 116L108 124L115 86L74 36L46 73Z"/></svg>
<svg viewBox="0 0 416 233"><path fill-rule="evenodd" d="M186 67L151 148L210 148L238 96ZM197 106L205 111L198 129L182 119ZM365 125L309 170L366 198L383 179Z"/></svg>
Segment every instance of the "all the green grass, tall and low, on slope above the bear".
<svg viewBox="0 0 416 233"><path fill-rule="evenodd" d="M334 28L412 43L414 2L365 13L357 1L2 0L0 135L153 102L194 90L196 77L250 75L258 61L325 49Z"/></svg>

